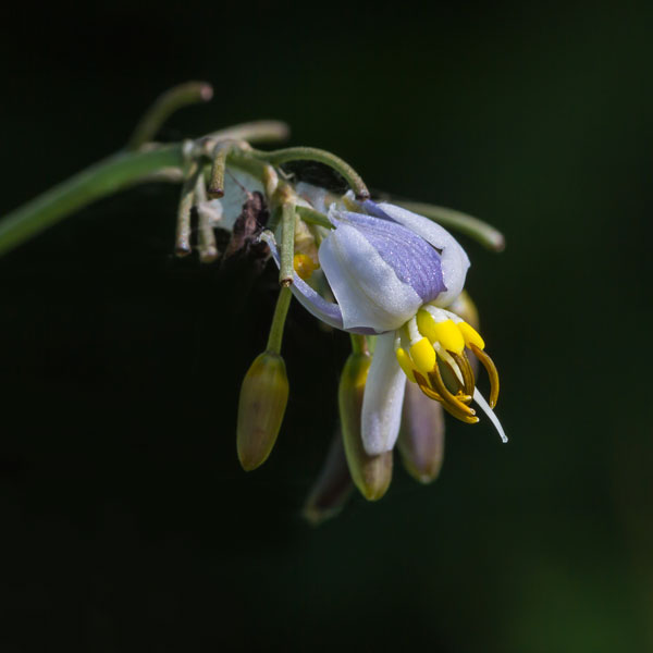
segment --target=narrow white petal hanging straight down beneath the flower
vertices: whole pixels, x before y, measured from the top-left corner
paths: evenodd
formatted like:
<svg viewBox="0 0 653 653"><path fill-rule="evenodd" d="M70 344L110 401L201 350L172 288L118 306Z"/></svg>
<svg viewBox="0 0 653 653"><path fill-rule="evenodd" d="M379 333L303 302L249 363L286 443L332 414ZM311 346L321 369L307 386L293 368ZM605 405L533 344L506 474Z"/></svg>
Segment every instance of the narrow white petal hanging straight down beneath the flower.
<svg viewBox="0 0 653 653"><path fill-rule="evenodd" d="M362 446L370 456L391 451L399 434L406 375L397 362L394 341L395 333L377 338L365 386L361 435Z"/></svg>

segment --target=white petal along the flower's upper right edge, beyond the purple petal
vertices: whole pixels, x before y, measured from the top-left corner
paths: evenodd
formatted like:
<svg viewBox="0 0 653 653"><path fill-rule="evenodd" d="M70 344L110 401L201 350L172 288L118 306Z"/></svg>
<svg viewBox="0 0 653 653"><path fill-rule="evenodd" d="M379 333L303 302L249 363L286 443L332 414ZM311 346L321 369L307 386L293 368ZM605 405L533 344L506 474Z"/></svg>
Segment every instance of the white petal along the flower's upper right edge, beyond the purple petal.
<svg viewBox="0 0 653 653"><path fill-rule="evenodd" d="M379 204L387 215L407 226L442 251L442 275L446 292L441 293L433 304L448 306L463 291L469 269L469 258L456 238L436 222L391 204Z"/></svg>

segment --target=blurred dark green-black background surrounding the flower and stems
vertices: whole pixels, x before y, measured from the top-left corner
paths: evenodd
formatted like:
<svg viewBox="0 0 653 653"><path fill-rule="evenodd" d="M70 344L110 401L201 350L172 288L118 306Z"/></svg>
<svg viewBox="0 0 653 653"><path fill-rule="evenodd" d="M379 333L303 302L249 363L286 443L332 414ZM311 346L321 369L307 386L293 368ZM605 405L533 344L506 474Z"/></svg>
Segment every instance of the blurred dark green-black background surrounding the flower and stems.
<svg viewBox="0 0 653 653"><path fill-rule="evenodd" d="M0 213L210 81L163 137L280 118L504 231L463 242L510 435L448 422L433 485L397 466L307 527L346 336L292 308L284 428L246 475L274 272L173 260L176 188L101 201L0 261L2 651L653 649L650 4L2 14Z"/></svg>

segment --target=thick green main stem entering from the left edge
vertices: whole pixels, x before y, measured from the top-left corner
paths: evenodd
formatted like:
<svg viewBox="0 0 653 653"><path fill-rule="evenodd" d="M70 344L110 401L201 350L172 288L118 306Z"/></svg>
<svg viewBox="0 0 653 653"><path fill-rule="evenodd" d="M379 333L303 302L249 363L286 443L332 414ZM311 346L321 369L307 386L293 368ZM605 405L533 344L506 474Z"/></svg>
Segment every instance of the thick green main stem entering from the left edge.
<svg viewBox="0 0 653 653"><path fill-rule="evenodd" d="M147 181L148 175L161 168L181 168L183 164L181 144L109 157L19 207L0 221L0 255L101 197Z"/></svg>

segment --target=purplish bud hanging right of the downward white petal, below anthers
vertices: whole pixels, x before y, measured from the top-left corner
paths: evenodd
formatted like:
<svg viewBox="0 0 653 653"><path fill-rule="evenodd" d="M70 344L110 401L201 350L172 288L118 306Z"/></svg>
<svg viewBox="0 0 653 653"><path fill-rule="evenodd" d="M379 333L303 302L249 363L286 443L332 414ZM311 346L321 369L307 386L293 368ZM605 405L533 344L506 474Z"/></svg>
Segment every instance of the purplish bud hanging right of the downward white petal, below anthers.
<svg viewBox="0 0 653 653"><path fill-rule="evenodd" d="M406 383L397 447L414 479L430 483L438 478L444 458L442 405L427 397L415 383Z"/></svg>

